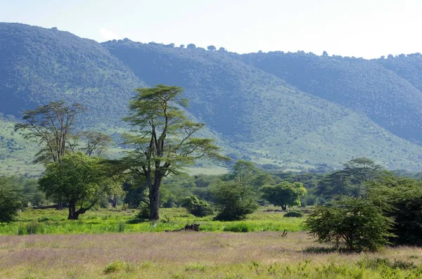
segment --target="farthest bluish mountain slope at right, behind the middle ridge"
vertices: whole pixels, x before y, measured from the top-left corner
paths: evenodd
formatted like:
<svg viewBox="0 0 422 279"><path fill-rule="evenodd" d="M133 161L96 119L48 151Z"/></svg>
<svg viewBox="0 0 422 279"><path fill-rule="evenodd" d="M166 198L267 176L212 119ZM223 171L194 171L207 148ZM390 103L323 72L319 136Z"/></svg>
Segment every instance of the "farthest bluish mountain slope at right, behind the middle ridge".
<svg viewBox="0 0 422 279"><path fill-rule="evenodd" d="M234 57L301 91L364 113L397 136L422 141L421 91L373 61L300 51Z"/></svg>

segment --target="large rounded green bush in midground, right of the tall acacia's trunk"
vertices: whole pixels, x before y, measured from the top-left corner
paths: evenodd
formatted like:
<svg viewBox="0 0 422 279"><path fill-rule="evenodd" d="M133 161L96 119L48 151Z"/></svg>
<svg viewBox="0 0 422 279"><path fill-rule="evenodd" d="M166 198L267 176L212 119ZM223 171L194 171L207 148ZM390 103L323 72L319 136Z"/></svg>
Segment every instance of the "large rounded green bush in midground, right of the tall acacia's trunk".
<svg viewBox="0 0 422 279"><path fill-rule="evenodd" d="M257 197L253 189L235 181L215 183L212 186L212 195L219 208L217 220L240 220L258 208Z"/></svg>

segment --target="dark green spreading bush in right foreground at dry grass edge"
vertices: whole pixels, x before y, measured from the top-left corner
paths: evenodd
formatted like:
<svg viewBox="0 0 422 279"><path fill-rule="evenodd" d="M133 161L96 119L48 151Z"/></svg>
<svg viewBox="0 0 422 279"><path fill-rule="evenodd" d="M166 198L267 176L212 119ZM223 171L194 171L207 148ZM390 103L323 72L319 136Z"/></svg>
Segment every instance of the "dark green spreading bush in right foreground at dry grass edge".
<svg viewBox="0 0 422 279"><path fill-rule="evenodd" d="M318 242L344 242L350 251L376 251L388 243L392 220L369 199L343 197L332 207L316 207L305 221Z"/></svg>

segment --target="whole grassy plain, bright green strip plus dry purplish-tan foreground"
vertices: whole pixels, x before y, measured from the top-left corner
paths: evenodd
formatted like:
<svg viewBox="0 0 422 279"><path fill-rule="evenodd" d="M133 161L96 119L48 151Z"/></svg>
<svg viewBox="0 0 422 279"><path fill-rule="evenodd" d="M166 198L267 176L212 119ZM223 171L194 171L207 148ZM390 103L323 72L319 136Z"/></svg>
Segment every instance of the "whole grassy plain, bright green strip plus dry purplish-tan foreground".
<svg viewBox="0 0 422 279"><path fill-rule="evenodd" d="M219 222L162 209L151 223L98 209L69 222L65 211L27 209L0 227L0 278L422 278L421 248L342 252L283 215L262 207ZM193 221L199 232L165 232Z"/></svg>

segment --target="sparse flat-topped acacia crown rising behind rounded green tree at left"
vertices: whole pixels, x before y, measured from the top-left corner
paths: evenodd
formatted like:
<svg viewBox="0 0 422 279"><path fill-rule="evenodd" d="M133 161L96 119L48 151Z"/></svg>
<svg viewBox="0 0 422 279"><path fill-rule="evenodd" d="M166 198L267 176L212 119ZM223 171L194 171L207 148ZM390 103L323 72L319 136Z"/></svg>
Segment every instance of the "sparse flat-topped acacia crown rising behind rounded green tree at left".
<svg viewBox="0 0 422 279"><path fill-rule="evenodd" d="M61 100L23 112L24 123L16 124L15 130L30 131L25 138L36 138L40 144L44 144L34 162L47 164L60 161L68 149L75 116L85 110L79 103L65 105Z"/></svg>

